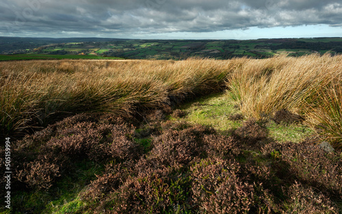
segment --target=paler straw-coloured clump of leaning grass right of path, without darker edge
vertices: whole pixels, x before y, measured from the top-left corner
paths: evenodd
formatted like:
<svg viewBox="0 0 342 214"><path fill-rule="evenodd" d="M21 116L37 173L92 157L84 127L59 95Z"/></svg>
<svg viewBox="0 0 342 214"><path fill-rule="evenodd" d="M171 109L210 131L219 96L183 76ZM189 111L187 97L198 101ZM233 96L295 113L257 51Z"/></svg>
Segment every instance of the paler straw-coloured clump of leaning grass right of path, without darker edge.
<svg viewBox="0 0 342 214"><path fill-rule="evenodd" d="M254 118L272 118L281 109L304 113L303 102L341 74L341 60L330 55L251 59L229 78L228 94Z"/></svg>

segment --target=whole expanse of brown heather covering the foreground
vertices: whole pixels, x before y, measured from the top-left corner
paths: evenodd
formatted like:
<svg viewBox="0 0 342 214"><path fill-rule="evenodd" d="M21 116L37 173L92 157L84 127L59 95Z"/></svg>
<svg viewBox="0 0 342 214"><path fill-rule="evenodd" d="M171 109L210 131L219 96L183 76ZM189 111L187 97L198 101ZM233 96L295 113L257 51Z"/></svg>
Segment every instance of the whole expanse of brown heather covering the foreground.
<svg viewBox="0 0 342 214"><path fill-rule="evenodd" d="M14 211L339 213L341 209L342 159L337 152L327 153L307 142L267 143L269 136L256 120L247 120L231 135L166 119L149 120L148 125L153 129L142 136L138 127L146 122L81 113L16 142L13 186L17 197L23 190L26 193L22 200L16 199ZM70 182L78 189L58 191ZM65 202L54 200L64 198L67 191L75 192ZM45 204L30 207L27 201L44 193Z"/></svg>

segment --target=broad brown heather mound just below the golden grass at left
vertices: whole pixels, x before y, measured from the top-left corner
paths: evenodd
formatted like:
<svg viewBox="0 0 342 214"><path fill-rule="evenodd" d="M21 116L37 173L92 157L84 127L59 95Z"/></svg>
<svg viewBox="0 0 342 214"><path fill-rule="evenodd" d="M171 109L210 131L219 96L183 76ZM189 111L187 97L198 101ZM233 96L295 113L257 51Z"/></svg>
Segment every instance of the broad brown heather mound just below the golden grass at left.
<svg viewBox="0 0 342 214"><path fill-rule="evenodd" d="M73 158L89 158L94 161L109 158L118 161L134 159L138 153L137 145L127 139L127 134L132 131L122 126L124 125L77 123L60 131L60 135L51 138L47 146Z"/></svg>

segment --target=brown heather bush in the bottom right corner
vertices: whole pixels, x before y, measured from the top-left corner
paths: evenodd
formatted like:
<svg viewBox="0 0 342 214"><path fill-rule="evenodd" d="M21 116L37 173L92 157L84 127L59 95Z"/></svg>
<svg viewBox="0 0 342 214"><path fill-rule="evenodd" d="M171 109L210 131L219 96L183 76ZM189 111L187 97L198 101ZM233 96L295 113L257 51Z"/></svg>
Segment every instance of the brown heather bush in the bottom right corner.
<svg viewBox="0 0 342 214"><path fill-rule="evenodd" d="M322 193L315 193L311 187L295 182L289 188L289 200L285 202L284 213L339 213L336 205Z"/></svg>

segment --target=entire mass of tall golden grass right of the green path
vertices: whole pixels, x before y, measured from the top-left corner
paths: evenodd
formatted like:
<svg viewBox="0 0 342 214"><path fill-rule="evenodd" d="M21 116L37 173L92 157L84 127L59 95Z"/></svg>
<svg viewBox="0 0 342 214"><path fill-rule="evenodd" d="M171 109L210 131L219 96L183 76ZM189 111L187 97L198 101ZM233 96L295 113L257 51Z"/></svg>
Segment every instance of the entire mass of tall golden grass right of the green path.
<svg viewBox="0 0 342 214"><path fill-rule="evenodd" d="M227 81L246 116L276 122L303 119L341 147L342 56L306 55L248 60Z"/></svg>

